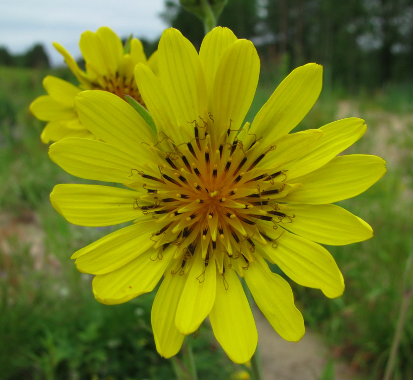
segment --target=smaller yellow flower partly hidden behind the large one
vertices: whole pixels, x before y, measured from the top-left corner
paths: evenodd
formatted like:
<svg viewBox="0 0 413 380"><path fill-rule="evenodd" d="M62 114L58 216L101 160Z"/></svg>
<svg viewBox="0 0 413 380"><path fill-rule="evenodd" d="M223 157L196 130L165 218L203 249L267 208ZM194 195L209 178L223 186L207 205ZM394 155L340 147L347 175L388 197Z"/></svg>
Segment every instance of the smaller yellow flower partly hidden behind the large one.
<svg viewBox="0 0 413 380"><path fill-rule="evenodd" d="M134 78L134 68L138 62L143 62L156 71L157 63L156 54L146 60L138 39L132 39L129 51L125 52L120 38L108 27L101 27L96 33L84 32L79 46L86 62L86 72L79 68L64 47L57 43L53 45L63 55L80 85L75 86L50 75L44 79L43 86L48 95L39 96L30 105L38 119L48 122L42 132L43 142L66 137L95 138L82 125L74 107L74 99L81 91L105 90L122 98L130 95L145 105Z"/></svg>

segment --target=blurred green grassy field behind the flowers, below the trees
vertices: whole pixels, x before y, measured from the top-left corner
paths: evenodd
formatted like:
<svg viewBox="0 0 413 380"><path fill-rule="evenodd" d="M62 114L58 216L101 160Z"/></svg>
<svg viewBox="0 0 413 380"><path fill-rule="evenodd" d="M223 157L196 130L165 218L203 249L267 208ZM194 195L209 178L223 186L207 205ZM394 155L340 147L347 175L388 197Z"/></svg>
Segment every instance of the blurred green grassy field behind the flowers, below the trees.
<svg viewBox="0 0 413 380"><path fill-rule="evenodd" d="M0 379L171 379L171 363L156 353L150 331L154 294L123 305L99 304L90 276L78 273L70 260L110 228L71 225L49 204L55 184L81 180L48 159L40 141L44 123L28 109L44 94L46 74L0 67ZM54 74L68 78L64 70ZM268 73L262 79L248 120L278 80ZM375 232L363 243L327 247L343 272L344 295L329 300L292 284L306 323L366 380L383 378L403 299L412 292L413 271L406 272L409 257L413 260L412 99L411 86L361 95L325 88L298 126L362 117L367 134L348 152L377 154L388 162L380 182L340 202ZM207 325L194 352L199 379L235 379L242 370L214 343ZM392 379L413 379L412 307L395 359Z"/></svg>

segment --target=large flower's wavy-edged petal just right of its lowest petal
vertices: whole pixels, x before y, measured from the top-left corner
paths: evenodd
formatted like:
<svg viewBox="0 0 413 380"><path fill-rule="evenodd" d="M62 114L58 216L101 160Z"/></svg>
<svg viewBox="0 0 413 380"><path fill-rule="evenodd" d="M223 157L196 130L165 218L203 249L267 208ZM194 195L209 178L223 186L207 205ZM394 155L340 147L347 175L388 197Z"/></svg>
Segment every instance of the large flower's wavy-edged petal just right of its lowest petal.
<svg viewBox="0 0 413 380"><path fill-rule="evenodd" d="M294 305L290 285L270 271L260 255L244 271L244 278L260 310L285 340L296 342L305 332L304 319Z"/></svg>

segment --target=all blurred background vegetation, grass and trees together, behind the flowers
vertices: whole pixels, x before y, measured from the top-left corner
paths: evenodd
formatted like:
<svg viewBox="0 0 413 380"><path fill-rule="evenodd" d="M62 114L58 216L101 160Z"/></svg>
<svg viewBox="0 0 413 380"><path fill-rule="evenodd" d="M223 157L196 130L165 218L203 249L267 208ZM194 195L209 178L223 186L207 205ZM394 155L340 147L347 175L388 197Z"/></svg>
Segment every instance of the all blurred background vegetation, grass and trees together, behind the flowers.
<svg viewBox="0 0 413 380"><path fill-rule="evenodd" d="M177 1L165 1L161 17L199 47L203 26ZM406 265L413 251L413 1L229 0L219 25L254 41L260 54L260 83L246 120L291 69L315 61L324 66L322 94L296 130L362 117L367 134L347 152L388 162L378 184L340 202L375 231L366 242L327 247L346 280L344 295L329 300L291 284L331 358L345 358L361 379L382 379L401 307L412 294ZM149 54L157 42L144 45ZM47 74L76 83L67 68L49 68L41 45L18 56L0 48L0 379L171 379L171 363L156 353L150 331L153 294L101 305L91 277L70 261L111 229L70 225L49 204L55 184L80 180L48 159L40 141L44 123L28 109L45 93ZM194 350L199 379L242 379L243 368L229 362L207 325ZM413 379L412 307L394 368L391 379Z"/></svg>

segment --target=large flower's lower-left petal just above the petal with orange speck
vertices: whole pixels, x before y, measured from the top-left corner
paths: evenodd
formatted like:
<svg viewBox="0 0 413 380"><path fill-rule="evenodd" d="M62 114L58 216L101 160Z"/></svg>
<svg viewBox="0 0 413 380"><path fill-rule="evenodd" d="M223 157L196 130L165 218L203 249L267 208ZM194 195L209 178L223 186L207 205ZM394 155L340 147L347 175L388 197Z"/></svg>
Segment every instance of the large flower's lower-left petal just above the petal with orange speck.
<svg viewBox="0 0 413 380"><path fill-rule="evenodd" d="M150 221L140 221L94 241L75 252L72 259L76 258L76 267L80 272L92 275L112 272L154 245L151 238L156 231L156 225Z"/></svg>

